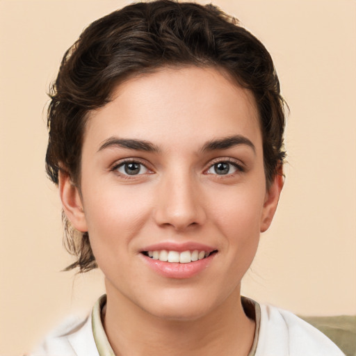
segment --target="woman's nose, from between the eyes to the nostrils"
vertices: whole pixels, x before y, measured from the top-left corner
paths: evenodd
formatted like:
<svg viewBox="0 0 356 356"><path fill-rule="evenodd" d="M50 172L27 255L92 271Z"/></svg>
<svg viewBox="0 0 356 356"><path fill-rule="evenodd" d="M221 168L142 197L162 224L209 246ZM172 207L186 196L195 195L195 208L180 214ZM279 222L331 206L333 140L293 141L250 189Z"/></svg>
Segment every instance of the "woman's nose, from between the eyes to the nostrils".
<svg viewBox="0 0 356 356"><path fill-rule="evenodd" d="M203 225L207 215L199 181L188 173L163 179L157 194L154 218L158 225L170 226L177 231Z"/></svg>

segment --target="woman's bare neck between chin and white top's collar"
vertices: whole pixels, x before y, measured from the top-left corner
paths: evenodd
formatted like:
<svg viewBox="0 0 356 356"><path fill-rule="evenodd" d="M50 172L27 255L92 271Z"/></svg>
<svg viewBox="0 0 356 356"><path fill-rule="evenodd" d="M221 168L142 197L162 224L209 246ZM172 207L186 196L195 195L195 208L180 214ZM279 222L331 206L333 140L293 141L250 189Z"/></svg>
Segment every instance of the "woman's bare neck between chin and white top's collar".
<svg viewBox="0 0 356 356"><path fill-rule="evenodd" d="M110 293L104 328L117 356L247 356L254 321L243 312L240 288L208 314L170 320L149 314L119 293Z"/></svg>

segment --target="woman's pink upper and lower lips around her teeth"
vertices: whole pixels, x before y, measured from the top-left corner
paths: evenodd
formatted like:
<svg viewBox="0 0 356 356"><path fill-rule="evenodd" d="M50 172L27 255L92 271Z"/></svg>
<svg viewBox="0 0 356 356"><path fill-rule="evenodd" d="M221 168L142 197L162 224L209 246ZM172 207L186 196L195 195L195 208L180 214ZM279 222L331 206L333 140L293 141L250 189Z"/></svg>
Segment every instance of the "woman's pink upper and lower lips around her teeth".
<svg viewBox="0 0 356 356"><path fill-rule="evenodd" d="M201 243L157 243L145 247L141 252L154 250L171 250L177 252L184 252L187 250L199 250L205 252L217 251L216 248L211 248L211 246L203 245ZM149 268L154 270L155 273L158 273L163 277L182 280L202 273L202 271L204 271L205 268L208 268L216 257L216 253L210 254L204 259L189 262L188 264L159 261L159 259L152 259L145 256L143 253L140 253L140 257Z"/></svg>

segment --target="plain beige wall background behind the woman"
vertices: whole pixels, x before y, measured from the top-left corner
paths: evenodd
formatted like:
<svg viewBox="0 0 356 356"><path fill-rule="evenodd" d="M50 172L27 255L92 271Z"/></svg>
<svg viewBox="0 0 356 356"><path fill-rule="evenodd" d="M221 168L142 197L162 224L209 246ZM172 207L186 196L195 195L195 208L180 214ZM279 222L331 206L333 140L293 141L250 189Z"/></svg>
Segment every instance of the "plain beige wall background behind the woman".
<svg viewBox="0 0 356 356"><path fill-rule="evenodd" d="M65 49L125 3L0 1L0 355L29 350L104 291L98 271L60 272L70 257L44 174L44 105ZM215 3L266 44L291 107L286 186L243 293L298 314L356 314L356 2Z"/></svg>

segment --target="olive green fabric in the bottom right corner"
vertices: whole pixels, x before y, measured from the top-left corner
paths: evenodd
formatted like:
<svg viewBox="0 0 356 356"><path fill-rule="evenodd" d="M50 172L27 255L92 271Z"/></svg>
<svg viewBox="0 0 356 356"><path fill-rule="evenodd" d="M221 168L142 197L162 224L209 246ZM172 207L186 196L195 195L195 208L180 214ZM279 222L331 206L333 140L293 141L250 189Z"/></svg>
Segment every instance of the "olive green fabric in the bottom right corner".
<svg viewBox="0 0 356 356"><path fill-rule="evenodd" d="M356 356L356 316L300 316L323 332L346 356Z"/></svg>

